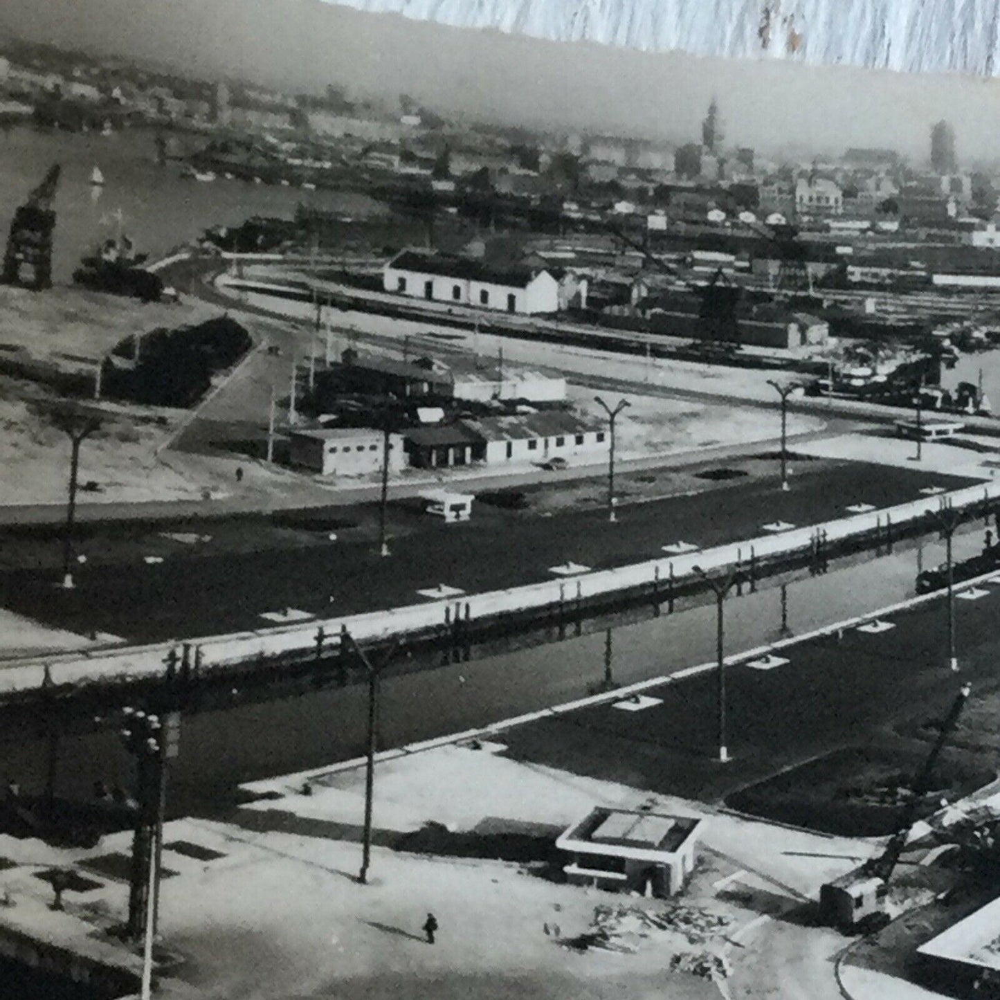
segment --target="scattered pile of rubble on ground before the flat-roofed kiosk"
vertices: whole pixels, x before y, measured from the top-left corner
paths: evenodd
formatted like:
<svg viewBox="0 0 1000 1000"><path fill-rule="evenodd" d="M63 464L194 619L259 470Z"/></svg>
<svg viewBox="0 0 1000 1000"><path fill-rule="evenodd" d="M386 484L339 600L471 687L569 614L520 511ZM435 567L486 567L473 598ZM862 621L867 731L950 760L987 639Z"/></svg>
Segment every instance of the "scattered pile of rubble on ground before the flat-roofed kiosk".
<svg viewBox="0 0 1000 1000"><path fill-rule="evenodd" d="M563 938L560 943L577 951L600 948L632 955L643 944L651 943L670 954L671 971L704 978L725 978L729 975L728 964L709 945L720 939L732 922L731 917L682 904L657 910L626 905L598 906L587 931ZM695 950L685 945L694 945Z"/></svg>

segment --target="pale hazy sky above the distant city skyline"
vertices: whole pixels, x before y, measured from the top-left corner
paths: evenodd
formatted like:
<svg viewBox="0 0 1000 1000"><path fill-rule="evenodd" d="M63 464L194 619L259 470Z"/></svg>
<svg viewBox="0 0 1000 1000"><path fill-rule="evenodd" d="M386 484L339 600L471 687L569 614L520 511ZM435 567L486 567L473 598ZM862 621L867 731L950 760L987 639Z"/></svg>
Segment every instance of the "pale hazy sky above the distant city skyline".
<svg viewBox="0 0 1000 1000"><path fill-rule="evenodd" d="M695 139L711 95L727 141L928 155L948 118L960 158L1000 159L1000 81L778 61L647 54L448 28L320 0L2 0L0 27L87 47L231 73L287 89L346 84L566 129Z"/></svg>

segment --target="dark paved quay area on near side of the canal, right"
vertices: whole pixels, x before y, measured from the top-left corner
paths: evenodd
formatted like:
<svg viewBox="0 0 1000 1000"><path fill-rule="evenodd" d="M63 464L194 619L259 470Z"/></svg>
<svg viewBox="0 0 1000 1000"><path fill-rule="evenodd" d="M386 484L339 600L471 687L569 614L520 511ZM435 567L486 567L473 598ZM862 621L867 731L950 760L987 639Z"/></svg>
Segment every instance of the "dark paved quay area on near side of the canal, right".
<svg viewBox="0 0 1000 1000"><path fill-rule="evenodd" d="M996 634L1000 584L977 600L956 599L958 674L948 668L943 597L887 620L880 634L849 629L782 650L773 669L727 668L727 743L717 760L717 674L645 692L659 704L624 711L585 708L512 730L511 753L535 763L691 798L732 791L837 747L898 738L887 723L940 718L959 684L1000 682ZM993 761L983 760L984 769Z"/></svg>

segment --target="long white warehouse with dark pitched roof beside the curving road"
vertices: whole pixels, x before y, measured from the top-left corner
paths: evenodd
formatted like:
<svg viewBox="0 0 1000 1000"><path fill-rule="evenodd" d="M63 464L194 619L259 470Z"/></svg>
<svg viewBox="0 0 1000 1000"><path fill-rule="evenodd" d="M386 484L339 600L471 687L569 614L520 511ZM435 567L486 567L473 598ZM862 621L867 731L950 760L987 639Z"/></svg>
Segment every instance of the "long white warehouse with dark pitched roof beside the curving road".
<svg viewBox="0 0 1000 1000"><path fill-rule="evenodd" d="M466 257L404 250L385 266L387 292L534 315L559 310L559 282L544 269L495 268Z"/></svg>

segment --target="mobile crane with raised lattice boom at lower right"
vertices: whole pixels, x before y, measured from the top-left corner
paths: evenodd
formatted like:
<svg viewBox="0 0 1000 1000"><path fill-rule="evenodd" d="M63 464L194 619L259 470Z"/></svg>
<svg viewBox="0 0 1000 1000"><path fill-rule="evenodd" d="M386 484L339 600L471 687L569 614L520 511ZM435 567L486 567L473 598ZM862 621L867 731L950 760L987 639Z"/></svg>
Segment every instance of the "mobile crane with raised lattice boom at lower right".
<svg viewBox="0 0 1000 1000"><path fill-rule="evenodd" d="M899 864L910 830L916 822L921 801L930 788L934 766L948 737L958 724L971 688L964 685L941 723L937 739L913 782L913 795L903 810L899 827L881 854L860 868L847 872L820 887L820 913L824 921L842 930L875 930L888 922L885 911L889 880Z"/></svg>

